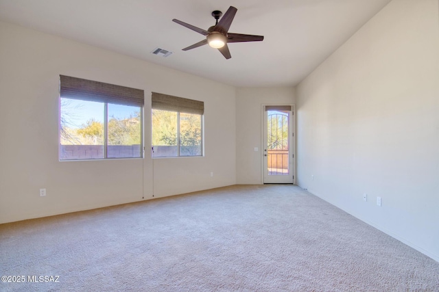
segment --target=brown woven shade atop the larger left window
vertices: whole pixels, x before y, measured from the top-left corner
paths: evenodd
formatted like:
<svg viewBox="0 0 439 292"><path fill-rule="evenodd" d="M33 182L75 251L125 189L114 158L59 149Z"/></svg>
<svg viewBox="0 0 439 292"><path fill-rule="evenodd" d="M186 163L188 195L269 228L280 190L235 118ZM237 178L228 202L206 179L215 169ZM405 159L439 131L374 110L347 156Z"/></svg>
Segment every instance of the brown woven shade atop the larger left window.
<svg viewBox="0 0 439 292"><path fill-rule="evenodd" d="M64 75L60 75L60 95L63 98L136 107L143 107L145 100L143 90Z"/></svg>

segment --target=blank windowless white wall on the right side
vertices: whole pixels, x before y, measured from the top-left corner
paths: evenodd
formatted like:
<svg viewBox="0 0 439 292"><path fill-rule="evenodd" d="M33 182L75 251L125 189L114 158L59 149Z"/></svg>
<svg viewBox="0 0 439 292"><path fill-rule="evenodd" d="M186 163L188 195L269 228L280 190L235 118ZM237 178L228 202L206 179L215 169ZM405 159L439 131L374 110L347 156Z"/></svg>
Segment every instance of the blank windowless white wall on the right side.
<svg viewBox="0 0 439 292"><path fill-rule="evenodd" d="M436 261L438 12L390 2L296 89L298 185Z"/></svg>

